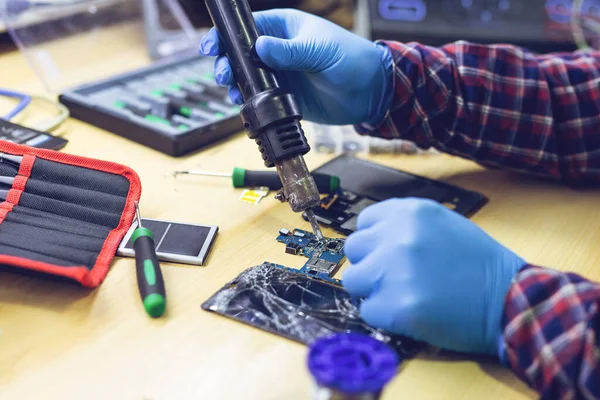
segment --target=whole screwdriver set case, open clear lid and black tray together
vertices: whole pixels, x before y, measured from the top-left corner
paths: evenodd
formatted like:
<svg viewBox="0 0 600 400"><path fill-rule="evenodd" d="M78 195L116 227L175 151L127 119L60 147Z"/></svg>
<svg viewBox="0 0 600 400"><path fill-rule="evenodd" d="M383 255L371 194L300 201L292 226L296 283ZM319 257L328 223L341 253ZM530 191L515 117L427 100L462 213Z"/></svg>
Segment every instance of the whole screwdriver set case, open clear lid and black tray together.
<svg viewBox="0 0 600 400"><path fill-rule="evenodd" d="M144 24L157 5L177 43L157 41L156 24ZM214 59L198 55L200 38L177 0L0 0L0 20L74 118L171 156L242 130L240 109L215 83ZM146 44L164 58L145 57Z"/></svg>

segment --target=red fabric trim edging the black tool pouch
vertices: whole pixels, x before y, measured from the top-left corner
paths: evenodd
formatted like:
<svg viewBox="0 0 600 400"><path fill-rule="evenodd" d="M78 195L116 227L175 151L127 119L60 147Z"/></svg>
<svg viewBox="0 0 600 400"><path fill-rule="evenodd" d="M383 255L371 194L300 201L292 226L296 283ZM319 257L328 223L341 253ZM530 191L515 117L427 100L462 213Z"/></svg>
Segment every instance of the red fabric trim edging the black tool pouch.
<svg viewBox="0 0 600 400"><path fill-rule="evenodd" d="M91 271L88 271L88 269L84 266L63 267L19 257L0 255L0 263L7 263L9 265L26 269L64 276L71 278L86 287L98 286L106 277L110 263L117 252L117 247L119 246L119 243L121 243L125 233L127 233L129 226L131 226L131 221L133 220L133 216L135 214L135 206L133 202L139 200L142 194L142 185L138 175L131 168L117 163L59 153L54 150L37 149L6 141L0 141L0 152L13 155L23 155L23 161L21 162L21 167L19 168L19 174L25 176L29 176L31 174L35 157L39 157L48 161L121 175L129 181L129 193L127 194L127 200L121 214L119 225L108 234L106 240L104 241L104 245L102 246L102 250L100 250L100 254L96 259L96 264ZM12 192L12 190L9 191L9 196L10 192ZM1 212L0 204L0 213ZM2 220L3 218L0 219L0 223Z"/></svg>

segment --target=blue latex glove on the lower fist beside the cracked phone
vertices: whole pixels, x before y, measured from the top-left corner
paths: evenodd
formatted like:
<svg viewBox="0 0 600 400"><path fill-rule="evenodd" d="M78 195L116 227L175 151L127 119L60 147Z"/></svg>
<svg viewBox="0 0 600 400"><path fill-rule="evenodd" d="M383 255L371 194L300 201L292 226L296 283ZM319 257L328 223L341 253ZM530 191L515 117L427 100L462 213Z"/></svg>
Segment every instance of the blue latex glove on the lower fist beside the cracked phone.
<svg viewBox="0 0 600 400"><path fill-rule="evenodd" d="M430 200L365 209L343 284L369 324L448 350L501 356L506 293L525 261Z"/></svg>

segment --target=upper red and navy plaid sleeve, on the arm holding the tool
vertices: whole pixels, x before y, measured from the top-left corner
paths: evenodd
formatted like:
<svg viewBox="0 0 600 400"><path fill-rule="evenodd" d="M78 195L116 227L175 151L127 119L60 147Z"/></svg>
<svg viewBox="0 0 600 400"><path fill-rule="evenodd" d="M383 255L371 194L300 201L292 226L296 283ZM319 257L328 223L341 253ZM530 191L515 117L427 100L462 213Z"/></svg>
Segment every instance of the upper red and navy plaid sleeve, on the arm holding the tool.
<svg viewBox="0 0 600 400"><path fill-rule="evenodd" d="M600 184L600 52L535 56L509 45L384 42L393 104L361 134L552 177Z"/></svg>

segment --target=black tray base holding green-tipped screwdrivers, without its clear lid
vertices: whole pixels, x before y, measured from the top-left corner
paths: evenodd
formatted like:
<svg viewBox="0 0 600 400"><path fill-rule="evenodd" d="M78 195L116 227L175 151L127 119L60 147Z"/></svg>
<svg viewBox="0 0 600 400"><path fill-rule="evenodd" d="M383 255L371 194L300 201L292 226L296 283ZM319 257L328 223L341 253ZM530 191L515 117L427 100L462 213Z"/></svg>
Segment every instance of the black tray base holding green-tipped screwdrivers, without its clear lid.
<svg viewBox="0 0 600 400"><path fill-rule="evenodd" d="M171 156L242 129L239 107L218 86L213 61L189 57L80 86L60 101L71 116Z"/></svg>

